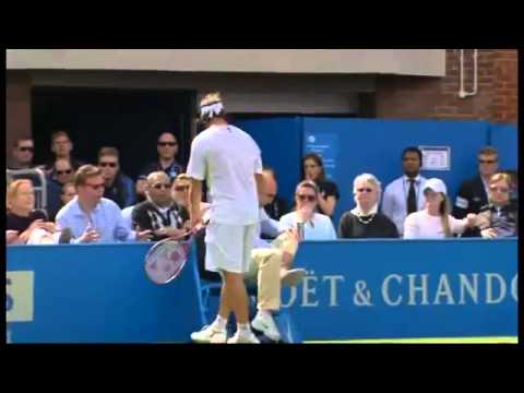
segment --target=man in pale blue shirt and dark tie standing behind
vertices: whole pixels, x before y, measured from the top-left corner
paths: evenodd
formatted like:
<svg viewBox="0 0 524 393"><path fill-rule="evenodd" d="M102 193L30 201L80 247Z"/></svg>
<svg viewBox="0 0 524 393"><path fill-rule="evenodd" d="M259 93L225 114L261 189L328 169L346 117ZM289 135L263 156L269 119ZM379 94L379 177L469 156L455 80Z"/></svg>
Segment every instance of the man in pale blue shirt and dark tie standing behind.
<svg viewBox="0 0 524 393"><path fill-rule="evenodd" d="M392 181L384 191L382 213L395 225L398 234L404 234L406 216L424 209L424 183L426 178L420 176L422 167L422 152L418 147L406 147L402 152L402 169L404 176Z"/></svg>

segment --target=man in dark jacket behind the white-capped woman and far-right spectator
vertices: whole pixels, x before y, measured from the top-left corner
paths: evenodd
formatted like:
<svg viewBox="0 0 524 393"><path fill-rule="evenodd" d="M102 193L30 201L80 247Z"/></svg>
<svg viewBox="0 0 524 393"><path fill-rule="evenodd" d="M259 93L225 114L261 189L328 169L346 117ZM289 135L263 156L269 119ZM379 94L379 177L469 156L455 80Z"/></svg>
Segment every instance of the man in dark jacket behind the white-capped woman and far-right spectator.
<svg viewBox="0 0 524 393"><path fill-rule="evenodd" d="M499 169L499 153L487 146L478 152L478 176L461 184L456 195L453 216L464 218L469 213L478 214L488 204L489 179ZM466 230L462 237L478 236L475 230Z"/></svg>

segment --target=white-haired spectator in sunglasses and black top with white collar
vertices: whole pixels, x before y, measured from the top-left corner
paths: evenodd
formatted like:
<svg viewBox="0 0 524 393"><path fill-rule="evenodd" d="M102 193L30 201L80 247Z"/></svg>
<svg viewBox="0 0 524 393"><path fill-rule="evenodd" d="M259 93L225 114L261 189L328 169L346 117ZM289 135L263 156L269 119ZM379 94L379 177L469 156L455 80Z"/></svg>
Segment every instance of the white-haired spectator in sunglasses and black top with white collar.
<svg viewBox="0 0 524 393"><path fill-rule="evenodd" d="M357 176L353 182L353 193L357 206L342 216L338 226L341 239L398 237L395 224L379 212L382 188L373 175Z"/></svg>

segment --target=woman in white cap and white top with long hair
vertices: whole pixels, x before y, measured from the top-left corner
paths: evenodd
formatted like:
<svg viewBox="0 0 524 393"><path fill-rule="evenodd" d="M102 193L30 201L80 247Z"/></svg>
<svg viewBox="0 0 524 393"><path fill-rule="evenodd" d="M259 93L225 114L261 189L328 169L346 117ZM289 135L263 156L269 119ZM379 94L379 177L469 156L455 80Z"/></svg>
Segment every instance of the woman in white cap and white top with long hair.
<svg viewBox="0 0 524 393"><path fill-rule="evenodd" d="M433 178L424 186L426 206L412 213L404 223L405 239L443 239L453 234L462 234L468 227L475 226L476 215L468 214L464 219L450 215L450 203L446 188L442 180Z"/></svg>

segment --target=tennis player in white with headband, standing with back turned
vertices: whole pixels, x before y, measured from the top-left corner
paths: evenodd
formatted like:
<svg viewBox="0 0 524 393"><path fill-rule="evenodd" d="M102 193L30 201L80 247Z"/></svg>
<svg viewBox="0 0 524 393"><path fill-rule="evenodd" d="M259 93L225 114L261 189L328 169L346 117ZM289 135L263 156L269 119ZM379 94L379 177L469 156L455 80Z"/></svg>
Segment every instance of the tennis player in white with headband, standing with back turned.
<svg viewBox="0 0 524 393"><path fill-rule="evenodd" d="M262 188L262 159L257 143L228 124L218 93L200 104L200 119L207 128L192 142L188 175L191 177L191 225L201 224L202 181L206 181L211 221L205 243L205 269L223 278L218 315L210 326L191 334L198 343L258 344L249 325L249 300L243 283L259 221L258 189ZM227 340L229 312L237 332Z"/></svg>

